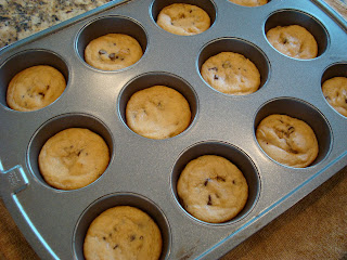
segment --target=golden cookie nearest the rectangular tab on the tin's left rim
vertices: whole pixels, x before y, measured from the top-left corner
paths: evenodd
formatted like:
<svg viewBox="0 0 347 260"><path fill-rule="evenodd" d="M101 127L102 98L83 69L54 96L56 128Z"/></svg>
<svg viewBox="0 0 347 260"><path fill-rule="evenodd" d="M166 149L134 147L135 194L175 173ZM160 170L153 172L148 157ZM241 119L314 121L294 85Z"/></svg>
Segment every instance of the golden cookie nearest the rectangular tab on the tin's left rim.
<svg viewBox="0 0 347 260"><path fill-rule="evenodd" d="M65 129L50 138L39 154L44 181L61 190L75 190L95 181L107 168L108 146L97 133Z"/></svg>

